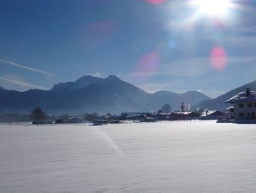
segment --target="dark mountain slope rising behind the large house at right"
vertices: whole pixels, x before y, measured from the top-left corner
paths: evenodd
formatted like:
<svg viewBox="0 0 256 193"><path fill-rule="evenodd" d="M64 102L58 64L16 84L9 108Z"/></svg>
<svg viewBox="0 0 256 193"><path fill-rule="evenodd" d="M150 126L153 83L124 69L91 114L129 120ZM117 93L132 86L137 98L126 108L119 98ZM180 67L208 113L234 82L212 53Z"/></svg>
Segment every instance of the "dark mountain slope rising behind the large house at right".
<svg viewBox="0 0 256 193"><path fill-rule="evenodd" d="M209 110L225 110L227 107L230 107L230 103L225 103L226 100L234 97L237 93L245 91L246 88L250 90L256 90L256 80L251 83L247 83L244 86L240 86L230 92L227 92L220 97L216 97L213 100L203 100L202 102L198 103L193 109L199 107L200 109L209 109Z"/></svg>

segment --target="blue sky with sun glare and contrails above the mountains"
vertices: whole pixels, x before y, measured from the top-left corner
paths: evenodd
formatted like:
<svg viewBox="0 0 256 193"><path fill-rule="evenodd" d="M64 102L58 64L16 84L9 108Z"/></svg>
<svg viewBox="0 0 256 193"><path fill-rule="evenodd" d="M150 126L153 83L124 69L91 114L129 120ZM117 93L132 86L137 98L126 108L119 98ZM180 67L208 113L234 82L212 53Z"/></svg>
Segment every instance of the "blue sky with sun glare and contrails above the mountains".
<svg viewBox="0 0 256 193"><path fill-rule="evenodd" d="M0 86L116 75L218 97L256 80L253 0L1 0Z"/></svg>

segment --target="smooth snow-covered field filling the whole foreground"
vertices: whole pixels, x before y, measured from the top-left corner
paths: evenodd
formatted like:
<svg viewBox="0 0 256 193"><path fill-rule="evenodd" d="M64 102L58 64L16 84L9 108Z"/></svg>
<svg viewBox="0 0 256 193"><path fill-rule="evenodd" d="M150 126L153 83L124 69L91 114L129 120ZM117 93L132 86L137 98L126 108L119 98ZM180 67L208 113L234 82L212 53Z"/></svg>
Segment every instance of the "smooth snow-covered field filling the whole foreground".
<svg viewBox="0 0 256 193"><path fill-rule="evenodd" d="M1 192L256 192L256 125L0 125Z"/></svg>

